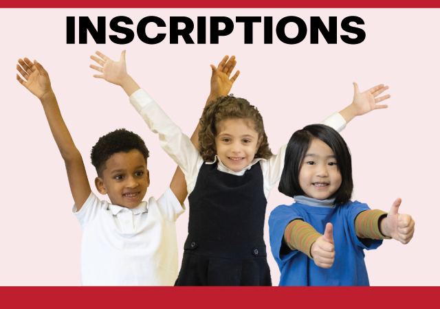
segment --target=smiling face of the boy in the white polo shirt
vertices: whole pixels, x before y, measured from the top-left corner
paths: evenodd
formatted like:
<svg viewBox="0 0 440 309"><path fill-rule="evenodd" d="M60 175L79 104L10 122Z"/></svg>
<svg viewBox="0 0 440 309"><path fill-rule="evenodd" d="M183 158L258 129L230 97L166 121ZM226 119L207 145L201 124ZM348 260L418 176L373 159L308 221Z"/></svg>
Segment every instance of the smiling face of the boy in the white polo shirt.
<svg viewBox="0 0 440 309"><path fill-rule="evenodd" d="M117 152L105 162L102 178L95 180L100 194L109 194L113 205L137 207L150 185L146 161L139 150Z"/></svg>

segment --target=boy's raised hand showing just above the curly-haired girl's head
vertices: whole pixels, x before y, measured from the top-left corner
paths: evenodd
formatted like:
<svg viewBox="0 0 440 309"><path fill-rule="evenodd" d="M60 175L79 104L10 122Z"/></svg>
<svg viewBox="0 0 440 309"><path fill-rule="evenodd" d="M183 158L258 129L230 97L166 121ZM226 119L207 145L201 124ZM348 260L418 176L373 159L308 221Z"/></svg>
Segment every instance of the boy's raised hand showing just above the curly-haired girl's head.
<svg viewBox="0 0 440 309"><path fill-rule="evenodd" d="M234 84L236 78L239 77L240 71L236 71L234 76L232 76L231 79L229 78L236 65L236 60L235 56L232 56L229 61L228 58L229 56L225 56L217 68L214 65L211 65L212 76L210 98L212 98L212 100L216 100L222 95L228 95L232 88L232 84Z"/></svg>

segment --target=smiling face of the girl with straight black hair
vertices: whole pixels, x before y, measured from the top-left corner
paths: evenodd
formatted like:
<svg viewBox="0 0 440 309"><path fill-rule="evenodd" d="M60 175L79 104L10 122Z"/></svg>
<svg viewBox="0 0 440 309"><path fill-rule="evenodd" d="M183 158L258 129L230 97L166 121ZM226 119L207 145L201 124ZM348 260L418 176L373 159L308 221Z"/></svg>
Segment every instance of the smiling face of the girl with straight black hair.
<svg viewBox="0 0 440 309"><path fill-rule="evenodd" d="M333 150L320 139L313 139L300 167L299 183L305 196L325 200L338 191L342 176Z"/></svg>

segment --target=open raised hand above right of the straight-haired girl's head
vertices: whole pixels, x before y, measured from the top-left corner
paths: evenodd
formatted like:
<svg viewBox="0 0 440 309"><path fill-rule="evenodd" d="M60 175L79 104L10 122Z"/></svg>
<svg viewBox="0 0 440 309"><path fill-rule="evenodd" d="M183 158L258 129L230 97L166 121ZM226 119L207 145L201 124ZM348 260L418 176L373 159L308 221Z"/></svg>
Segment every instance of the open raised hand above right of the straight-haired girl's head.
<svg viewBox="0 0 440 309"><path fill-rule="evenodd" d="M377 95L380 95L382 92L386 91L386 89L389 88L388 86L380 84L361 93L359 91L358 84L353 82L353 85L355 86L355 96L353 98L352 105L353 107L355 107L356 116L364 115L366 113L374 111L375 109L388 107L388 105L376 105L383 100L391 98L391 95L384 95L383 97L376 99Z"/></svg>

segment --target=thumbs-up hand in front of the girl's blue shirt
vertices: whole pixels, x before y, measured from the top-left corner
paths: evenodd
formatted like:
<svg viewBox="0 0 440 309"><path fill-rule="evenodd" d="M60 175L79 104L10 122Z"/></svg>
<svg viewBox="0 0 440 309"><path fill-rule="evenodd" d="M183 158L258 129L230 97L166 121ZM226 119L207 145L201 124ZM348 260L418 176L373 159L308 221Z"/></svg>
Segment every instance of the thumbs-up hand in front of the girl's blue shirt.
<svg viewBox="0 0 440 309"><path fill-rule="evenodd" d="M333 242L333 225L327 223L324 235L311 245L311 256L316 266L330 268L335 262L335 243Z"/></svg>

